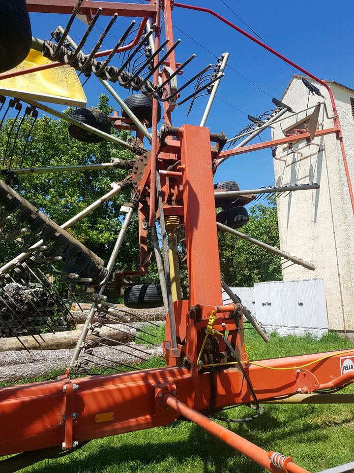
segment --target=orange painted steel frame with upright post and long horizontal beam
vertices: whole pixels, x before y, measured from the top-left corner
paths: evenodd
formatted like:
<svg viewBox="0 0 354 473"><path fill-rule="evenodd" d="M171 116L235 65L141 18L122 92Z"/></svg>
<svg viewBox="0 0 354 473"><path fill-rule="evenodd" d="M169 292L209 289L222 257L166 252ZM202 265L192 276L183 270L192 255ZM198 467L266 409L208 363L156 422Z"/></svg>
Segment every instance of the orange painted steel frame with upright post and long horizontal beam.
<svg viewBox="0 0 354 473"><path fill-rule="evenodd" d="M46 0L28 0L27 3L29 11L70 13L75 1L56 0L51 5ZM162 2L170 40L172 4L171 0ZM152 17L155 24L159 24L160 8L152 0L148 5L87 0L81 13L90 17L92 10L94 13L99 6L104 8L103 14L111 15L118 11L123 16L140 16L143 18L142 25L145 25L147 17ZM137 41L143 29L144 26L139 30ZM159 44L158 29L155 31L156 47ZM157 57L155 61L157 63ZM176 67L174 53L169 63L171 67ZM154 83L157 80L155 74ZM167 123L171 124L167 102L164 102L164 114ZM338 122L333 128L317 131L316 135L329 133L340 136ZM200 413L209 407L212 397L216 410L250 403L253 397L240 369L228 363L227 359L214 371L216 393L213 393L210 382L213 374L199 370L197 361L213 311L214 329L228 331L228 340L235 347L259 401L298 392L332 389L354 382L354 372L341 374L340 357L343 351L250 362L245 353L241 307L222 305L213 190L215 157L291 143L306 139L309 134L221 152L211 146L207 128L183 125L177 129L176 139L171 139L166 133L160 140L157 136L157 101L154 99L152 137L150 158L139 183L141 202L145 201L149 206L149 214L146 206L139 206L140 262L141 270L145 270L142 264L146 257L143 219L148 220L150 225L155 221L157 169L162 183L165 214L179 215L185 226L189 300L174 303L178 356L170 348L171 326L168 319L163 343L166 368L75 380L70 379L69 372L66 372L56 381L0 388L0 423L6 426L0 429L0 455L58 445L62 445L63 450L70 450L77 442L80 445L90 439L168 425L182 415L269 471L305 472L290 457L280 454L277 454L281 457L281 462L278 462L280 467L276 466L272 460L274 452L266 452ZM179 166L169 171L169 166L178 164L177 161ZM219 347L220 352L226 352L221 338ZM348 350L345 354L353 352Z"/></svg>

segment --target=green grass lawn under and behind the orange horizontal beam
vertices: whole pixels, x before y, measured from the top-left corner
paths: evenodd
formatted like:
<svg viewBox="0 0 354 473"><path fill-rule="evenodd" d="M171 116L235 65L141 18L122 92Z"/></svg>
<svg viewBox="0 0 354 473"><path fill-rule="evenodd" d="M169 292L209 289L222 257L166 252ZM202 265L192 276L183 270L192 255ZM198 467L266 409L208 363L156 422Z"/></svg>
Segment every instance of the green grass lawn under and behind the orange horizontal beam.
<svg viewBox="0 0 354 473"><path fill-rule="evenodd" d="M336 334L311 337L271 336L264 343L246 330L251 359L353 347ZM155 335L161 338L162 330ZM143 368L163 366L152 359ZM53 375L54 373L52 373ZM48 376L49 377L49 376ZM354 388L342 392L354 393ZM243 407L228 411L241 417ZM264 415L247 424L227 425L237 434L268 450L292 456L310 472L354 461L354 405L265 405ZM177 421L168 427L92 440L60 460L45 460L22 470L32 473L258 473L255 465L192 423Z"/></svg>

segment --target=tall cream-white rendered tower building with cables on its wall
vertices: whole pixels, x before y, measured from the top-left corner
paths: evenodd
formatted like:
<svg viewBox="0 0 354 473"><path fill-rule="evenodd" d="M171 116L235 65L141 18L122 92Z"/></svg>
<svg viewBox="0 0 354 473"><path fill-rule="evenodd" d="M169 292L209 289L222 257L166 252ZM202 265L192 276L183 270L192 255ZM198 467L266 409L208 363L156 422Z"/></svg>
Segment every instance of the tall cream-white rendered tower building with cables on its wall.
<svg viewBox="0 0 354 473"><path fill-rule="evenodd" d="M308 79L324 96L313 95L295 75L282 101L297 112L321 104L318 129L333 127L329 95L325 87ZM341 122L349 176L354 187L354 90L328 82ZM273 125L273 139L301 129L313 112L297 113ZM329 117L329 118L328 118ZM305 130L304 130L305 131ZM315 137L275 151L276 185L317 182L320 189L295 191L277 198L281 249L316 266L310 271L298 265L283 270L285 281L323 278L328 328L354 338L354 212L350 200L340 143L336 135ZM286 266L286 265L285 265Z"/></svg>

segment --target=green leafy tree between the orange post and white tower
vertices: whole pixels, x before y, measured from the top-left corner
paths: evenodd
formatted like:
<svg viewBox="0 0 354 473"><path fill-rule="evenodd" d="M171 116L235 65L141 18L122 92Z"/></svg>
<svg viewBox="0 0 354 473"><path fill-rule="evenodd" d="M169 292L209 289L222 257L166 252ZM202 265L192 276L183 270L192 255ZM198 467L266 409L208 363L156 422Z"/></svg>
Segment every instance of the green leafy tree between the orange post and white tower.
<svg viewBox="0 0 354 473"><path fill-rule="evenodd" d="M253 205L249 222L240 232L279 248L275 198L268 198L268 205ZM255 282L282 279L280 258L229 233L219 233L218 238L221 274L229 285L253 286Z"/></svg>

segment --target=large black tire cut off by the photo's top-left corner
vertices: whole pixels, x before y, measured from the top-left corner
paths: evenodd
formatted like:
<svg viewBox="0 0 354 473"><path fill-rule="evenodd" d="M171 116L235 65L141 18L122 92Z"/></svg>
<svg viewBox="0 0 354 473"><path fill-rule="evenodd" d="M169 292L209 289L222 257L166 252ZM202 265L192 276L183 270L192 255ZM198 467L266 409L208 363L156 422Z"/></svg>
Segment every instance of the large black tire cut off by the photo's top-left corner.
<svg viewBox="0 0 354 473"><path fill-rule="evenodd" d="M22 63L31 43L26 0L0 0L0 73Z"/></svg>

